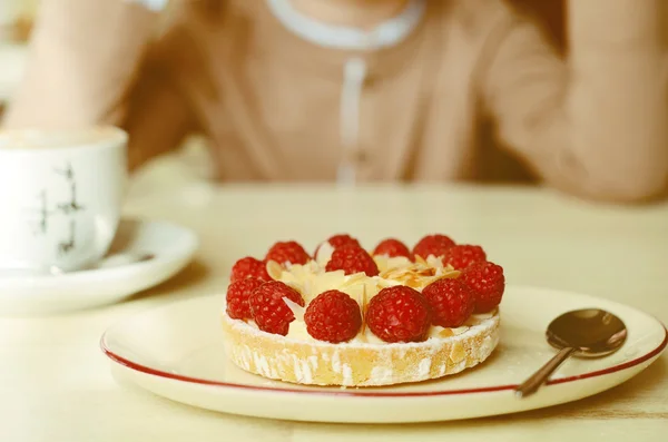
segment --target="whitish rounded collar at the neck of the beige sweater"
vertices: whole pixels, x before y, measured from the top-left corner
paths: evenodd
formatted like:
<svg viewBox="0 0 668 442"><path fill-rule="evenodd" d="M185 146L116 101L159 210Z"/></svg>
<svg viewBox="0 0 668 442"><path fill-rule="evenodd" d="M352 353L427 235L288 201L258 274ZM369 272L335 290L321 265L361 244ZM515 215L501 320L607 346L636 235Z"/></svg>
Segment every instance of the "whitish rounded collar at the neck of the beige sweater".
<svg viewBox="0 0 668 442"><path fill-rule="evenodd" d="M289 31L326 48L344 50L374 50L397 45L420 23L425 0L411 0L402 13L371 31L344 26L326 24L296 9L289 0L266 0L274 16Z"/></svg>

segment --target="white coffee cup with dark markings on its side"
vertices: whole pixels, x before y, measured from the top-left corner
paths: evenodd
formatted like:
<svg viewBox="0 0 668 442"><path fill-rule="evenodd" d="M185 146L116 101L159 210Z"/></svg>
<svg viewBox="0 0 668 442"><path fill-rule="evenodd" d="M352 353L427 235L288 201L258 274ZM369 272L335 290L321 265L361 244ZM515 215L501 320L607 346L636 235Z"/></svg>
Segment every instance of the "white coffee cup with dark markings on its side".
<svg viewBox="0 0 668 442"><path fill-rule="evenodd" d="M120 220L127 135L0 130L0 269L71 272L101 259Z"/></svg>

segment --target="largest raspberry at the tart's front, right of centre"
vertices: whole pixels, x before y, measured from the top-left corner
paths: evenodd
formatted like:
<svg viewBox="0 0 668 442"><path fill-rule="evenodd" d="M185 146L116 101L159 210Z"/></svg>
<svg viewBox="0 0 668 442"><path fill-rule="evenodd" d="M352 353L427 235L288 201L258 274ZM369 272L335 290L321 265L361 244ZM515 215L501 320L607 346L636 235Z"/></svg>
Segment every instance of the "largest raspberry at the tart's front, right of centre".
<svg viewBox="0 0 668 442"><path fill-rule="evenodd" d="M420 342L426 338L431 311L420 292L395 285L371 298L366 324L385 342Z"/></svg>

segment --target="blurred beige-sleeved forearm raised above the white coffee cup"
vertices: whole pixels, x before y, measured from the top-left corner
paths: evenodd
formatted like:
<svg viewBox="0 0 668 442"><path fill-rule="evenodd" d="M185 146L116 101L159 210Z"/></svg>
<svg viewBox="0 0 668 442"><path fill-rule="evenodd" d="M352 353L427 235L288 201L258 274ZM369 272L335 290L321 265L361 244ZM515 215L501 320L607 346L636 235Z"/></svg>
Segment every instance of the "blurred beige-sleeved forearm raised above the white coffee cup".
<svg viewBox="0 0 668 442"><path fill-rule="evenodd" d="M137 1L42 0L27 75L4 124L120 121L122 100L159 23L159 13L135 7Z"/></svg>

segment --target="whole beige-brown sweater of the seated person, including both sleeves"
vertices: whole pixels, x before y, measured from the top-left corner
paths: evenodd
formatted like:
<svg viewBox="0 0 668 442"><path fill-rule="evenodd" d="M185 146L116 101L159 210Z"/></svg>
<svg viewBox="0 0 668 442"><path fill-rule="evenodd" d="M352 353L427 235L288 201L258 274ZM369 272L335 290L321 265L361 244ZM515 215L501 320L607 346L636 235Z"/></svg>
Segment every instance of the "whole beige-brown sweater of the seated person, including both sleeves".
<svg viewBox="0 0 668 442"><path fill-rule="evenodd" d="M45 0L6 124L119 125L134 165L204 132L222 180L333 180L346 165L358 181L443 181L484 178L489 117L550 185L629 202L667 187L664 0L571 1L567 63L502 0L428 0L407 38L372 51L306 41L265 0L174 6L153 39L143 7Z"/></svg>

